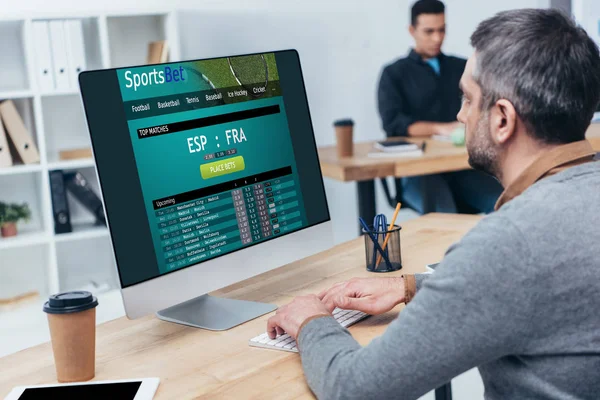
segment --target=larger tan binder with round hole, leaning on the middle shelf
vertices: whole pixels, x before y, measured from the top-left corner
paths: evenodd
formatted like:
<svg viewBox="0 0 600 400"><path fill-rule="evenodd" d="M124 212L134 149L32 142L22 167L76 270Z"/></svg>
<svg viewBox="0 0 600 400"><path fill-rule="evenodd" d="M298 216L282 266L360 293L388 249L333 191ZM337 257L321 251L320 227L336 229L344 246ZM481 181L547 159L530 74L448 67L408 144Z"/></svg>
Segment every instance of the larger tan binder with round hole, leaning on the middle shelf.
<svg viewBox="0 0 600 400"><path fill-rule="evenodd" d="M0 116L10 136L17 154L21 157L23 164L34 164L40 161L40 154L33 138L27 131L15 103L11 100L6 100L0 103Z"/></svg>

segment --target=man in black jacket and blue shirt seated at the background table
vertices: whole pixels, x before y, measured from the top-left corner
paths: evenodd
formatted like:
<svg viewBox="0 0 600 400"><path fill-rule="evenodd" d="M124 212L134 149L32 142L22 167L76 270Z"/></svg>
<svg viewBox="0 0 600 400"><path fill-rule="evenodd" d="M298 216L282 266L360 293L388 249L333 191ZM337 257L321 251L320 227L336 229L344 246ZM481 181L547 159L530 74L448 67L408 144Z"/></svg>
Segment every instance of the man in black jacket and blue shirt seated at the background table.
<svg viewBox="0 0 600 400"><path fill-rule="evenodd" d="M446 35L445 6L419 0L411 12L409 32L415 48L385 67L378 91L379 113L388 137L448 136L461 124L458 87L466 60L442 53ZM396 180L402 201L417 212L484 212L494 209L501 185L479 171L460 171ZM424 204L423 195L430 201Z"/></svg>

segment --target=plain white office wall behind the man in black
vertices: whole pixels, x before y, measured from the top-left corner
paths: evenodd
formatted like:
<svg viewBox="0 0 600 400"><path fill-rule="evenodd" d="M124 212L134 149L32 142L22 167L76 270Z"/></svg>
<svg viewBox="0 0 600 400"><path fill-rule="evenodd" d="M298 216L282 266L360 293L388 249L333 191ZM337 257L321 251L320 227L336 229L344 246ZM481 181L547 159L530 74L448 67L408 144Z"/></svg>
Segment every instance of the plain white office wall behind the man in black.
<svg viewBox="0 0 600 400"><path fill-rule="evenodd" d="M148 10L161 0L103 2L74 0L2 1L5 15L74 13L90 10ZM467 57L468 38L482 19L500 10L547 6L549 0L446 0L448 36L444 50ZM356 140L383 136L375 104L379 73L411 45L407 34L412 1L377 0L174 0L179 14L183 58L296 48L305 74L319 145L334 143L331 123L351 117ZM356 235L355 184L326 180L335 239ZM378 189L378 208L389 211Z"/></svg>

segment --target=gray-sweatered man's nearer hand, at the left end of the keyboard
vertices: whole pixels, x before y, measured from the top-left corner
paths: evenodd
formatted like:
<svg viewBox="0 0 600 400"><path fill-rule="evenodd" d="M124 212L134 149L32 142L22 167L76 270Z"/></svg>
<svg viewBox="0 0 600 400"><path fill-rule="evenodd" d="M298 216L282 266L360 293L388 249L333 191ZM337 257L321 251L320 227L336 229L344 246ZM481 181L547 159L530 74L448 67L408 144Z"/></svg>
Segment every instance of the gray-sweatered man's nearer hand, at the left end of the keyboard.
<svg viewBox="0 0 600 400"><path fill-rule="evenodd" d="M279 307L275 315L269 318L267 333L271 339L283 333L296 339L302 323L318 315L330 316L331 311L327 310L317 296L296 297L291 303Z"/></svg>

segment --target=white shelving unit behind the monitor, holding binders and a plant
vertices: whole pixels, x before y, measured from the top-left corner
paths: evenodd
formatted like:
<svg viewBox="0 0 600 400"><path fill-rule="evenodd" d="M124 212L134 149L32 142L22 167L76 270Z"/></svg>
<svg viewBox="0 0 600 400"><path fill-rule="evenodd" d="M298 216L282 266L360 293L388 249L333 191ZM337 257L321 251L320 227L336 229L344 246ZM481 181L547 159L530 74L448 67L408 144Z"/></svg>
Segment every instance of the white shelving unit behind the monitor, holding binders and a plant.
<svg viewBox="0 0 600 400"><path fill-rule="evenodd" d="M93 159L59 160L61 150L91 146L79 91L42 92L36 82L32 22L56 19L82 21L87 69L144 64L148 43L155 40L167 40L169 60L180 60L173 10L0 18L0 101L15 102L40 152L39 164L0 168L0 201L27 202L32 209L17 237L0 238L0 298L32 290L47 296L90 284L118 287L107 228L94 225L70 194L73 232L54 233L50 171L77 170L101 195Z"/></svg>

